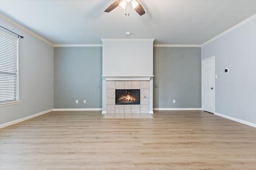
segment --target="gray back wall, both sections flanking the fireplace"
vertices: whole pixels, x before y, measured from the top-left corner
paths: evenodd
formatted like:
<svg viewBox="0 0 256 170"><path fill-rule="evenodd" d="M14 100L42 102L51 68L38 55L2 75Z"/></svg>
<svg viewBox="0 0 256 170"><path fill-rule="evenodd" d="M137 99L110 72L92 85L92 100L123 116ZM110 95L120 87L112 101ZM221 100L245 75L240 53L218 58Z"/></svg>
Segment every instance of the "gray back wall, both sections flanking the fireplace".
<svg viewBox="0 0 256 170"><path fill-rule="evenodd" d="M200 69L200 47L154 47L153 107L200 108ZM101 76L102 47L54 47L54 108L101 108Z"/></svg>

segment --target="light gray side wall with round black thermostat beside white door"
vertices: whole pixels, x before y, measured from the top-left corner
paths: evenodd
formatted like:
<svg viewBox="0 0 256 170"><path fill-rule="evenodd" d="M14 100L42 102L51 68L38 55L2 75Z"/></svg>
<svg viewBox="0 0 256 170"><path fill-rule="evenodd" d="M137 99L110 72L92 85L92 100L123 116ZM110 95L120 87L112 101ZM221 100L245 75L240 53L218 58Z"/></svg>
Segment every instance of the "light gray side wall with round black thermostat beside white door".
<svg viewBox="0 0 256 170"><path fill-rule="evenodd" d="M218 75L215 111L256 123L256 19L203 46L202 59L212 56Z"/></svg>

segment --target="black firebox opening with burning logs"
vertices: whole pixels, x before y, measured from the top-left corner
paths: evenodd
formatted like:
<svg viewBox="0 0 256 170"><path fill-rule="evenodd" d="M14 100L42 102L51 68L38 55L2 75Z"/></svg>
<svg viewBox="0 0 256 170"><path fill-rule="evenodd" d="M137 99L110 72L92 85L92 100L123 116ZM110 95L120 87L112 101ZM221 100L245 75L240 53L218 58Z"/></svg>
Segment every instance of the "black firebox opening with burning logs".
<svg viewBox="0 0 256 170"><path fill-rule="evenodd" d="M119 104L140 104L140 89L116 89L116 105Z"/></svg>

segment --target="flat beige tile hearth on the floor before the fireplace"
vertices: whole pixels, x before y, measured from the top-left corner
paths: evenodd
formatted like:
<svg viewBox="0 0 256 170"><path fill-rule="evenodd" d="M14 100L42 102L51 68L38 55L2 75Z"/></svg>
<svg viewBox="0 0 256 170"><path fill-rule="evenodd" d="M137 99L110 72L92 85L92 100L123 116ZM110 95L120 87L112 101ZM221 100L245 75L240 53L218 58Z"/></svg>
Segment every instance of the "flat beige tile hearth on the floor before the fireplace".
<svg viewBox="0 0 256 170"><path fill-rule="evenodd" d="M107 113L103 119L131 119L131 118L154 118L150 113L125 113L125 114L114 114Z"/></svg>

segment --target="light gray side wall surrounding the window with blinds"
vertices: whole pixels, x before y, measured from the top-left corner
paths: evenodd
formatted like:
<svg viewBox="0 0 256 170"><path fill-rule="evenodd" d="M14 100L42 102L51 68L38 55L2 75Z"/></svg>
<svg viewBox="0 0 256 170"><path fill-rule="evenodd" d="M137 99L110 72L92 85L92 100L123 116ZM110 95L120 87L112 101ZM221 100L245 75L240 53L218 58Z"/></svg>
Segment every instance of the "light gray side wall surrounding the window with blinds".
<svg viewBox="0 0 256 170"><path fill-rule="evenodd" d="M22 36L19 46L20 104L0 107L0 124L53 108L53 47L0 18Z"/></svg>

